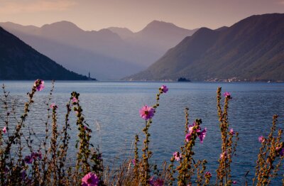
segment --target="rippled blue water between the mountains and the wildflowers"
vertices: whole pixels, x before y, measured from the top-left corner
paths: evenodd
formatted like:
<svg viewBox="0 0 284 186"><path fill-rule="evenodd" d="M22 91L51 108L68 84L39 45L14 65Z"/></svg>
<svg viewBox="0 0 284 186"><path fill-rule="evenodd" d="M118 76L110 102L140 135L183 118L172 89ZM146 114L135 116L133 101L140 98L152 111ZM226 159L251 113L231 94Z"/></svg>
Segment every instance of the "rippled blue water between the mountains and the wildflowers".
<svg viewBox="0 0 284 186"><path fill-rule="evenodd" d="M26 102L26 92L33 82L6 81L6 90L18 100ZM160 106L150 128L152 160L158 163L170 160L174 151L179 151L184 141L184 109L188 107L190 122L202 119L202 128L207 127L204 143L196 143L195 160L207 159L207 170L215 173L220 154L221 137L216 109L217 87L223 92L231 92L229 103L229 124L239 132L239 145L233 159L233 180L244 184L244 175L249 170L248 180L254 175L254 166L261 144L258 136L266 136L272 123L273 114L278 114L278 126L284 121L283 83L207 83L207 82L55 82L52 102L58 105L58 121L64 121L65 104L70 93L80 93L80 104L87 123L93 131L92 143L99 145L104 163L133 157L132 144L136 133L143 139L143 119L139 109L144 104L155 104L155 94L162 84L169 91L160 97ZM38 136L44 136L46 102L51 87L45 82L45 89L35 95L35 104L26 121L26 126L34 128ZM222 100L223 101L223 100ZM1 108L0 113L3 112ZM17 109L20 114L21 110ZM72 146L77 136L75 114L71 114ZM2 127L3 121L0 121ZM131 148L132 147L132 148ZM75 148L70 151L75 152ZM71 153L75 155L75 153ZM283 174L283 166L280 175ZM214 175L215 176L215 175ZM282 178L280 176L280 178ZM276 184L277 185L277 184Z"/></svg>

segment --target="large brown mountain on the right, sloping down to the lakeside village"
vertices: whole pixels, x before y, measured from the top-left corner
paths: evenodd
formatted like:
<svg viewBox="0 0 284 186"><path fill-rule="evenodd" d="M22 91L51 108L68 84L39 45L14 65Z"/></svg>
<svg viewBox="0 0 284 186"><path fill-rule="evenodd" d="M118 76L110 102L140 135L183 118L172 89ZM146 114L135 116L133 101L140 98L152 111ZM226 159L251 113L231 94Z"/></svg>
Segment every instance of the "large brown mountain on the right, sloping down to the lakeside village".
<svg viewBox="0 0 284 186"><path fill-rule="evenodd" d="M200 28L131 80L284 81L284 13Z"/></svg>

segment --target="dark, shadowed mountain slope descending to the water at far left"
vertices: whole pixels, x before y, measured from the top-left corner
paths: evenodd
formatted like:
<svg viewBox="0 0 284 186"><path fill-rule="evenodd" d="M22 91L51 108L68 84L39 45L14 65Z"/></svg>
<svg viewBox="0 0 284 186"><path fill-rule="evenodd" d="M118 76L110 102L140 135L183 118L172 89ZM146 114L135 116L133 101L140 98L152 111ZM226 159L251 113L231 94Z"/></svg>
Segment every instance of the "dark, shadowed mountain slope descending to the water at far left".
<svg viewBox="0 0 284 186"><path fill-rule="evenodd" d="M0 27L0 80L87 80Z"/></svg>

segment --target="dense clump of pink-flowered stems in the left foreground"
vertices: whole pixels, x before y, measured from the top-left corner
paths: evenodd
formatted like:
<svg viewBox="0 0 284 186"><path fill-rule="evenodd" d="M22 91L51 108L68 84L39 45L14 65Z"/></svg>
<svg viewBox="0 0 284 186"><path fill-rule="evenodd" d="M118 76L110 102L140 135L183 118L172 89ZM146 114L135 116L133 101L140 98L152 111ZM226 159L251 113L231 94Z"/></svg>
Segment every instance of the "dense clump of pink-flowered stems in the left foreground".
<svg viewBox="0 0 284 186"><path fill-rule="evenodd" d="M1 185L103 185L102 180L102 160L101 154L97 150L92 150L89 146L91 130L87 128L87 123L82 117L82 108L79 104L79 94L72 93L67 103L67 114L65 116L65 125L58 128L58 106L55 103L50 104L53 88L50 90L50 97L46 105L48 106L48 119L45 121L45 138L40 140L28 128L28 134L25 133L25 121L28 112L33 104L35 92L42 91L43 80L35 80L31 92L28 93L28 102L26 102L21 119L14 126L13 121L16 118L15 109L9 108L9 92L6 92L3 86L4 103L6 110L6 119L4 128L0 131L0 182ZM72 106L77 111L77 125L80 126L77 165L80 168L69 165L67 158L67 149L70 135L70 111ZM51 116L50 116L50 110ZM13 118L11 119L11 114ZM50 121L51 118L51 121ZM27 136L28 135L28 136ZM38 149L33 145L34 138L39 140ZM24 140L23 140L24 139ZM23 143L25 141L26 143ZM27 154L26 152L30 153ZM68 160L68 161L67 161ZM89 178L88 178L89 176ZM87 177L87 178L86 178Z"/></svg>

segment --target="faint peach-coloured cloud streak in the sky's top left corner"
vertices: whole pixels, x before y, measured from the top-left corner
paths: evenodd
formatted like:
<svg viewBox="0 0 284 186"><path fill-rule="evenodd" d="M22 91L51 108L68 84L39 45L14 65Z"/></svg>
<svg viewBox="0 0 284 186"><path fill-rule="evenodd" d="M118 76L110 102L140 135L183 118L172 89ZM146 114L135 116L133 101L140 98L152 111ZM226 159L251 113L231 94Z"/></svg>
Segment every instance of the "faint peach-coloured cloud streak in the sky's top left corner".
<svg viewBox="0 0 284 186"><path fill-rule="evenodd" d="M75 6L71 0L33 0L33 1L3 1L0 0L0 13L34 13L40 11L66 11Z"/></svg>

